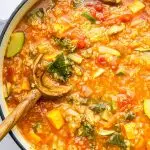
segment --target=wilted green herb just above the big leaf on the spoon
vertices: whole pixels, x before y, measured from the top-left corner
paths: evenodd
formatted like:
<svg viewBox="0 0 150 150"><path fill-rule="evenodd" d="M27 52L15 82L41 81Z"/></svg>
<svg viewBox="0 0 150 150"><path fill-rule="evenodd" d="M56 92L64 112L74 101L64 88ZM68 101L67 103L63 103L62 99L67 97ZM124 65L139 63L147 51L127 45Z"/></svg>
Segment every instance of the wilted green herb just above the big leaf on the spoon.
<svg viewBox="0 0 150 150"><path fill-rule="evenodd" d="M76 50L76 45L74 45L68 38L54 37L54 41L58 46L60 46L64 51L68 53L73 53Z"/></svg>

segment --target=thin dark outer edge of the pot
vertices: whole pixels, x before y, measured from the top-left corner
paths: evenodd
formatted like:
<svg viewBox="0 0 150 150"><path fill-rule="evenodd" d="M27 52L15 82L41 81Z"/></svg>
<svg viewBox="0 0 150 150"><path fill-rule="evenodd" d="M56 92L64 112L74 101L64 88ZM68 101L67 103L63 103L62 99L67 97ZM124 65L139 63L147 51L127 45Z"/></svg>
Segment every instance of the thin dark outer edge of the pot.
<svg viewBox="0 0 150 150"><path fill-rule="evenodd" d="M8 21L6 22L6 24L5 24L5 26L4 26L3 30L2 30L1 35L0 35L0 45L2 44L3 37L4 37L4 35L5 35L6 31L7 31L7 29L8 29L8 27L9 27L10 23L12 22L12 20L14 19L15 15L18 13L18 11L24 6L24 4L25 4L27 1L28 1L28 0L23 0L23 1L16 7L16 9L13 11L13 13L11 14L11 16L9 17ZM2 120L5 119L5 116L4 116L4 113L3 113L3 111L2 111L1 106L0 106L0 116L1 116ZM26 150L26 149L24 148L24 146L21 144L21 142L18 140L18 138L16 137L16 135L15 135L12 131L10 131L9 134L10 134L10 136L12 137L12 139L14 140L14 142L19 146L20 149Z"/></svg>

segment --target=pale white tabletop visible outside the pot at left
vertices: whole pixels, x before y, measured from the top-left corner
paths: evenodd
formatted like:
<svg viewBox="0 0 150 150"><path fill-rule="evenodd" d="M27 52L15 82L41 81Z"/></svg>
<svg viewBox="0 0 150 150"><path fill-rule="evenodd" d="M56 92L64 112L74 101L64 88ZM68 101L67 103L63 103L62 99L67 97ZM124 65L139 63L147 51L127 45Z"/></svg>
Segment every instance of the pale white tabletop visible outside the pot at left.
<svg viewBox="0 0 150 150"><path fill-rule="evenodd" d="M7 20L21 0L0 0L0 20ZM0 32L3 25L0 24ZM1 122L1 119L0 119ZM0 142L0 150L20 150L10 135Z"/></svg>

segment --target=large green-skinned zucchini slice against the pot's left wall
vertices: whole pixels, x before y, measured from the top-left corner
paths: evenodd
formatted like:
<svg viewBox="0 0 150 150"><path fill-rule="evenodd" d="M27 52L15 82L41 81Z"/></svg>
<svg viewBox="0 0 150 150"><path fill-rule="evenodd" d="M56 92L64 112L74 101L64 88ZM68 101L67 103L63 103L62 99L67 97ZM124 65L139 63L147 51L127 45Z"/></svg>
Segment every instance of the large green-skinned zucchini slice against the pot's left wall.
<svg viewBox="0 0 150 150"><path fill-rule="evenodd" d="M6 57L10 58L18 54L25 41L24 32L16 32L11 35L10 43L7 48Z"/></svg>

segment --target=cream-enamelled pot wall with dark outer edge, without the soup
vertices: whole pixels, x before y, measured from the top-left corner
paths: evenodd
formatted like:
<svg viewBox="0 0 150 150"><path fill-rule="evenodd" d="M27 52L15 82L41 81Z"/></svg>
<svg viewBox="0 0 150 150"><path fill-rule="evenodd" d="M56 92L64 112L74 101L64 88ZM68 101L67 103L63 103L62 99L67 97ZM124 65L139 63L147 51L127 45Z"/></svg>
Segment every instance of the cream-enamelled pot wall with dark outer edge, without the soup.
<svg viewBox="0 0 150 150"><path fill-rule="evenodd" d="M9 114L8 107L3 95L3 61L4 55L9 42L11 33L23 18L26 12L37 2L38 0L23 0L22 3L14 10L10 19L7 21L1 37L0 37L0 115L2 119ZM11 137L16 144L23 150L33 149L32 146L23 138L17 127L14 127L10 132Z"/></svg>

